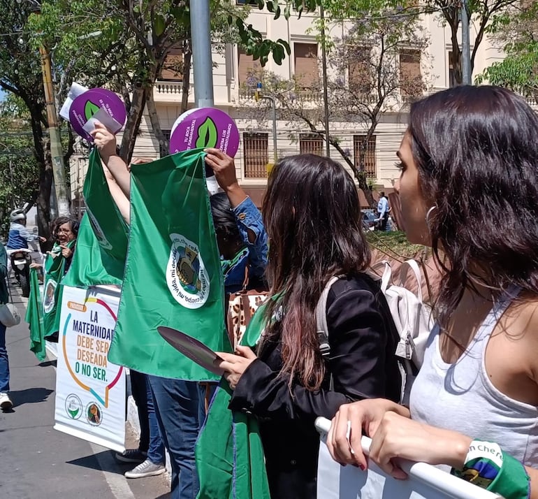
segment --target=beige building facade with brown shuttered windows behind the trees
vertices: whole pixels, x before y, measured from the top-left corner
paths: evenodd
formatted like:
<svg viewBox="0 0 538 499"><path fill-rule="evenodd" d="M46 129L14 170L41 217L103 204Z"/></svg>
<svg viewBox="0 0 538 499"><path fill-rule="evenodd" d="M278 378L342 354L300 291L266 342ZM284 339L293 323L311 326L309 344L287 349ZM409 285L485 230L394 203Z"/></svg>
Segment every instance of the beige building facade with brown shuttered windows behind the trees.
<svg viewBox="0 0 538 499"><path fill-rule="evenodd" d="M245 3L245 1L238 1ZM249 2L246 2L249 3ZM263 36L276 40L282 38L289 42L291 55L286 56L282 65L277 65L270 58L266 71L271 71L283 79L291 79L293 75L308 78L311 73L319 72L321 48L315 35L310 33L316 14L303 14L300 18L292 13L289 20L280 17L278 20L267 11L252 8L247 20L258 29ZM412 71L424 75L427 80L427 92L436 92L453 85L453 75L450 63L451 41L448 27L442 25L436 15L424 15L421 24L428 34L429 45L423 52L409 58L409 50L400 52L400 71ZM342 36L346 26L342 23L330 28L334 36ZM476 29L471 26L471 45L474 43ZM330 57L330 56L329 56ZM495 61L502 59L502 51L495 48L487 38L482 41L474 62L473 76L482 73L485 68ZM277 150L273 147L272 120L270 113L263 113L259 120L249 106L254 106L252 92L246 92L245 82L257 62L252 57L242 53L237 45L226 46L224 53L213 53L213 85L215 106L231 115L240 130L240 148L235 156L235 167L238 180L249 190L256 201L266 185L266 165L272 163L275 157L283 157L300 152L315 152L324 154L323 139L312 136L306 126L298 123L289 124L277 120ZM163 73L163 78L154 87L154 100L161 124L161 129L169 133L173 123L180 114L182 100L182 82L179 75ZM349 75L348 75L349 76ZM192 78L191 78L192 81ZM309 92L307 85L303 92ZM312 101L321 101L321 92L310 92ZM390 190L398 178L398 170L394 164L395 152L407 126L407 106L402 99L400 106L392 106L390 112L384 113L377 125L375 136L368 144L364 162L365 170L372 185L378 189ZM189 93L189 107L194 107L194 88ZM398 110L394 110L397 108ZM358 144L365 133L365 124L359 122L330 122L330 133L340 138L340 146L346 150L347 156L355 164L360 161ZM167 152L159 151L159 144L154 138L150 121L144 117L140 124L135 156L157 159ZM345 161L337 150L330 148L330 156L336 161ZM71 160L71 191L74 199L80 199L82 181L85 175L87 161L83 154L73 156Z"/></svg>

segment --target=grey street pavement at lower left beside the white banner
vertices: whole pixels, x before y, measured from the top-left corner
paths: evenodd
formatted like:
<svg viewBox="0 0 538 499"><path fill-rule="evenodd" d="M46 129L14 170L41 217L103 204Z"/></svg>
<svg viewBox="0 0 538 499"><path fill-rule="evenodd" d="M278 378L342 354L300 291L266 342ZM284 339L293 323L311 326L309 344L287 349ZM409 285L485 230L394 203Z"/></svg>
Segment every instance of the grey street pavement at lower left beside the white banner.
<svg viewBox="0 0 538 499"><path fill-rule="evenodd" d="M11 287L24 318L27 299ZM52 428L56 361L39 362L29 351L28 324L8 328L10 397L13 410L0 412L0 498L166 499L164 475L126 479L133 465L119 463L105 447ZM128 428L127 447L136 447Z"/></svg>

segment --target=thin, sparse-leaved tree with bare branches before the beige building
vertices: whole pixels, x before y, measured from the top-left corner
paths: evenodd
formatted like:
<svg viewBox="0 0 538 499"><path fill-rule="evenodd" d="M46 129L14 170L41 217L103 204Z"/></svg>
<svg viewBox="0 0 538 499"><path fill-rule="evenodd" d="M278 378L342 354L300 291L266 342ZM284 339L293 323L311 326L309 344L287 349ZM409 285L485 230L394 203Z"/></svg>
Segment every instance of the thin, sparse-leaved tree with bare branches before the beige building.
<svg viewBox="0 0 538 499"><path fill-rule="evenodd" d="M329 133L328 141L353 171L370 204L372 186L365 172L368 143L384 115L398 113L428 88L428 36L417 21L417 15L402 15L400 9L377 10L375 15L363 15L348 26L344 37L330 38L328 43L328 118L332 123L352 124L354 131L362 132L358 164L338 136ZM400 64L400 57L412 59L415 68L423 69L409 73ZM296 74L285 80L268 71L253 71L247 78L245 87L250 92L243 103L252 110L253 118L261 116L261 109L267 110L263 99L253 106L254 89L261 82L263 95L277 102L279 120L294 128L307 126L311 133L326 140L321 78L309 75L305 89L303 77Z"/></svg>

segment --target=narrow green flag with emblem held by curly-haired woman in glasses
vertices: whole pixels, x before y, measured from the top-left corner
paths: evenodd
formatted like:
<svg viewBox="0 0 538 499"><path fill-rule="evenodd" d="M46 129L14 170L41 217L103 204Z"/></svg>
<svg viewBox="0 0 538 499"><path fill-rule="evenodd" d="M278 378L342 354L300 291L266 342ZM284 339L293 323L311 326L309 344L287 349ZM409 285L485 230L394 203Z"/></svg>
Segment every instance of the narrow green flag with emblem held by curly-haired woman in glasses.
<svg viewBox="0 0 538 499"><path fill-rule="evenodd" d="M66 246L71 250L75 240L69 241ZM61 304L61 280L64 277L66 259L61 254L61 247L54 243L52 251L45 259L45 286L43 287L43 327L47 338L57 333L60 324L58 304ZM58 313L57 313L58 312Z"/></svg>

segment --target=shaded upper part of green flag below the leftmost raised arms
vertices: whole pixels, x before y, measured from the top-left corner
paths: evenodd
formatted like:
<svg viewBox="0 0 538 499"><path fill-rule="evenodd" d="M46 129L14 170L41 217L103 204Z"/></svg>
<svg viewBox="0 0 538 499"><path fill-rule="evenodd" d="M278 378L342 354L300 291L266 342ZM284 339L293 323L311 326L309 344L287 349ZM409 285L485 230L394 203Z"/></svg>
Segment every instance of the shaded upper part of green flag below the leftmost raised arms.
<svg viewBox="0 0 538 499"><path fill-rule="evenodd" d="M108 272L122 279L129 227L110 195L99 152L96 149L89 154L88 172L82 190L89 222L101 249L110 256Z"/></svg>

